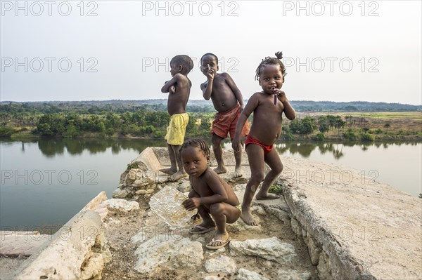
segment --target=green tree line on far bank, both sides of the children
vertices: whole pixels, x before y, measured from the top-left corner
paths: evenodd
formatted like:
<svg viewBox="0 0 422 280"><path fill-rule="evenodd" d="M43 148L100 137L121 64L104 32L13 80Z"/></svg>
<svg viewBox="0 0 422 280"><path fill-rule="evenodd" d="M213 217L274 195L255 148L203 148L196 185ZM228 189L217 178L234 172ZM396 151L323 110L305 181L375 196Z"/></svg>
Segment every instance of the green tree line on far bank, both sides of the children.
<svg viewBox="0 0 422 280"><path fill-rule="evenodd" d="M190 116L186 136L209 135L214 113L188 113ZM83 138L83 137L141 137L163 138L170 116L165 111L124 112L120 114L77 114L60 112L51 114L7 113L0 114L0 136L10 137L17 132L33 135ZM250 117L252 121L252 116ZM370 129L362 117L351 115L305 116L283 124L281 139L311 138L325 140L327 133L345 140L374 140L374 135L388 133L384 128Z"/></svg>

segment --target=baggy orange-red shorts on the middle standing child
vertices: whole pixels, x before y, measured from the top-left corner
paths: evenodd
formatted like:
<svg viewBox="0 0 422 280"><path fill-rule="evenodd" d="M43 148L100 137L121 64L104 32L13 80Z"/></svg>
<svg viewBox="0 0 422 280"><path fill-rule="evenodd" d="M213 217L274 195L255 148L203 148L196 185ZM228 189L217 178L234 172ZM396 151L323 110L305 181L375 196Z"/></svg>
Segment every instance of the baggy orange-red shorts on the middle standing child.
<svg viewBox="0 0 422 280"><path fill-rule="evenodd" d="M236 133L236 126L239 116L241 115L241 105L237 105L229 111L215 114L215 119L212 121L211 133L217 134L221 138L226 138L230 133L230 138L234 138ZM242 136L248 135L249 122L246 120L245 126L242 128Z"/></svg>

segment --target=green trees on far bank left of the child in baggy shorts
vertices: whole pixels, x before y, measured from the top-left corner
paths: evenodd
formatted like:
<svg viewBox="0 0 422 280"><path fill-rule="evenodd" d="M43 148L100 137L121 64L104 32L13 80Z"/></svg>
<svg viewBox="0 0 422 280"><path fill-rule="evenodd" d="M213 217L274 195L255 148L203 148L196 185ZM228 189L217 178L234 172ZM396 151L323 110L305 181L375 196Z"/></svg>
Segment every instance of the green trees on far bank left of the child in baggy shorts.
<svg viewBox="0 0 422 280"><path fill-rule="evenodd" d="M188 135L210 133L212 114L190 113L186 127ZM170 115L164 111L136 111L122 114L108 113L76 114L20 114L14 116L1 113L0 136L9 137L16 132L25 132L40 136L77 138L87 135L99 137L135 136L143 138L163 138L167 131Z"/></svg>

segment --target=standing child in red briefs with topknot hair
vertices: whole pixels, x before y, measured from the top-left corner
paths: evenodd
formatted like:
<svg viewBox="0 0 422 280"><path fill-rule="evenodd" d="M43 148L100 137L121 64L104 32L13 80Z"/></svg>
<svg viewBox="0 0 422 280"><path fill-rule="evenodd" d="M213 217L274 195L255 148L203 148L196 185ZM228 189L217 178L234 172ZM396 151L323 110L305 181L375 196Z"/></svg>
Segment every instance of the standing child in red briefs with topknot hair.
<svg viewBox="0 0 422 280"><path fill-rule="evenodd" d="M245 149L248 154L250 166L250 180L246 185L242 203L242 220L248 225L257 225L250 213L250 205L257 187L262 182L262 187L256 199L276 199L279 196L269 194L268 189L283 171L280 156L273 144L279 139L284 114L290 120L295 119L296 113L286 98L286 93L280 91L283 86L286 69L281 62L282 53L276 53L277 58L265 58L258 66L255 79L258 79L262 91L254 93L238 120L236 135L232 142L234 150L240 149L241 127L253 112L252 127L248 138L245 140ZM264 178L264 162L271 171Z"/></svg>

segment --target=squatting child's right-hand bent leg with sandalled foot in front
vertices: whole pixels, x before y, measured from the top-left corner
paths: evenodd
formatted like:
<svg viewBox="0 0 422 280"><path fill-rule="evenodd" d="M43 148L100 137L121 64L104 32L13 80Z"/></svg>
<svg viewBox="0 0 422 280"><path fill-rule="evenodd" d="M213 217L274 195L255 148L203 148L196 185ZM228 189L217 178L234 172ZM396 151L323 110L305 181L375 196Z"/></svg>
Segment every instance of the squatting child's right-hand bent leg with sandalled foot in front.
<svg viewBox="0 0 422 280"><path fill-rule="evenodd" d="M211 241L208 246L221 246L229 239L229 234L226 232L226 222L229 224L236 222L241 215L241 211L231 204L220 202L210 206L210 213L217 225L217 232L215 232L214 236L214 240L217 241Z"/></svg>

